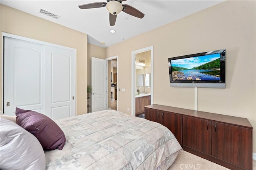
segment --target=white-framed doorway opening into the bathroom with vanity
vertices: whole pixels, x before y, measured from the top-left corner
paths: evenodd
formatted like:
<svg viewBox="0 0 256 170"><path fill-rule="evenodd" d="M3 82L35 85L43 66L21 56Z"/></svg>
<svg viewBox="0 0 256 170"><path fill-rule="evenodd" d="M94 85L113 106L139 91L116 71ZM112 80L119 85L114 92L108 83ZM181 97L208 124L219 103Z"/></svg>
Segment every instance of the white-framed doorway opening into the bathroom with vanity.
<svg viewBox="0 0 256 170"><path fill-rule="evenodd" d="M131 115L144 114L144 106L153 104L153 46L132 51Z"/></svg>

